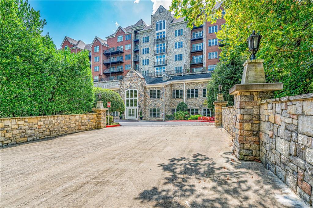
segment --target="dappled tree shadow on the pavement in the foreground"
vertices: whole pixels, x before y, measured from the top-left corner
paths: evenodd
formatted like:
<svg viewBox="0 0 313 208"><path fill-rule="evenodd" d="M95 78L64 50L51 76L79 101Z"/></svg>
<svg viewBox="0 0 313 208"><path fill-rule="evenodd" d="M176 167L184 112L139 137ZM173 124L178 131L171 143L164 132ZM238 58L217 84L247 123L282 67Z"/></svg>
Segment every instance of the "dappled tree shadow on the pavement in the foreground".
<svg viewBox="0 0 313 208"><path fill-rule="evenodd" d="M232 152L224 152L219 164L225 166L199 153L171 158L158 164L165 172L162 185L135 199L153 207L282 207L271 192L277 188L275 179L263 165L233 158Z"/></svg>

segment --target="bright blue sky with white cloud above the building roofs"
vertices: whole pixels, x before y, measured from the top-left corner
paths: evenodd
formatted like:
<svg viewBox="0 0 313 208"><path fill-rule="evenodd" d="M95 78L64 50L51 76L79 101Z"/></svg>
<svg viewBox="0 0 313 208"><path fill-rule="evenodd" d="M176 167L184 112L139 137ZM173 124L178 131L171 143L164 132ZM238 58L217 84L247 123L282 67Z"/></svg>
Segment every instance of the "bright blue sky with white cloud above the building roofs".
<svg viewBox="0 0 313 208"><path fill-rule="evenodd" d="M60 48L64 36L90 43L95 36L105 39L114 33L118 24L127 27L142 18L149 25L152 12L159 5L168 9L171 1L29 1L29 4L47 22L43 34L49 32Z"/></svg>

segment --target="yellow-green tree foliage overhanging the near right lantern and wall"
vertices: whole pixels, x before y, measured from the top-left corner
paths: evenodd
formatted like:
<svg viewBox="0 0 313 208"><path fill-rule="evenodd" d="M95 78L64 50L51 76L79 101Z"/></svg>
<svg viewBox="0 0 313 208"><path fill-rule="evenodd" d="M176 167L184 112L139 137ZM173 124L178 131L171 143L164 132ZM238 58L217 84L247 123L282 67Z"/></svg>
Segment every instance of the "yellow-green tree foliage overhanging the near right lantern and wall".
<svg viewBox="0 0 313 208"><path fill-rule="evenodd" d="M173 0L176 17L187 17L188 26L215 22L221 10L215 0ZM225 46L221 61L236 56L249 58L247 37L253 30L262 35L258 59L264 59L267 82L283 82L276 97L313 92L313 2L310 0L224 0L226 24L217 33ZM201 13L199 11L202 11Z"/></svg>

